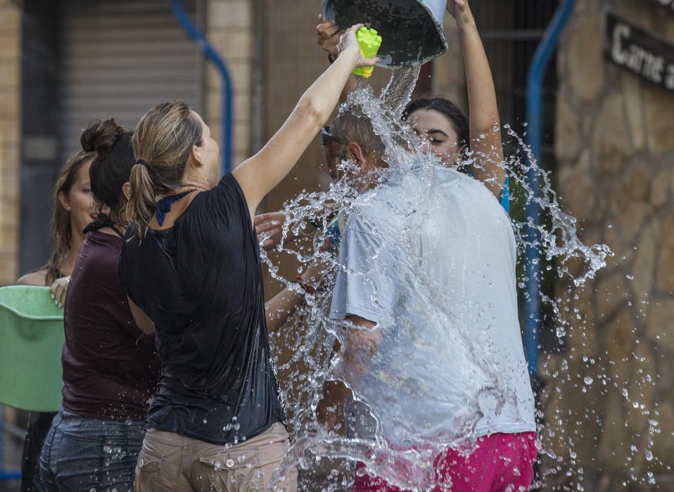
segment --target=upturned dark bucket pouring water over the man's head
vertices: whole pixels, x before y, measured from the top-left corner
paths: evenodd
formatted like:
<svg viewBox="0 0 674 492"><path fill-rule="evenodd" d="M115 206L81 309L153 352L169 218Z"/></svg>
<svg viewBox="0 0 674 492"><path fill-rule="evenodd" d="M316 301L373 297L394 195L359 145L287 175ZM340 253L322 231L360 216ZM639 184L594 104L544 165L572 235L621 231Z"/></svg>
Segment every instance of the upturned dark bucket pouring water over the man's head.
<svg viewBox="0 0 674 492"><path fill-rule="evenodd" d="M422 65L447 51L445 0L324 0L324 20L341 29L364 23L381 35L383 67Z"/></svg>

